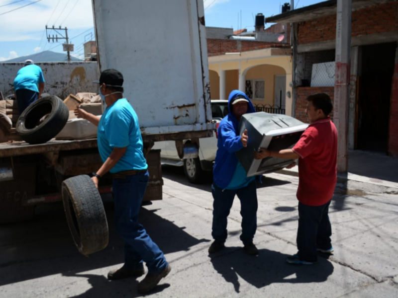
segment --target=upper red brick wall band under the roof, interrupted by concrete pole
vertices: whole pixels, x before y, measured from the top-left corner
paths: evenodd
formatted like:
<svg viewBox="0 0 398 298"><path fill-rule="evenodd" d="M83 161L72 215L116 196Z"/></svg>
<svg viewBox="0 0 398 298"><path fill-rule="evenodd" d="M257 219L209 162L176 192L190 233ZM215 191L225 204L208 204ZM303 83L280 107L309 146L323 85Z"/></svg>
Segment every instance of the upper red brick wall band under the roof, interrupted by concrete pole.
<svg viewBox="0 0 398 298"><path fill-rule="evenodd" d="M351 36L398 30L398 2L392 1L352 12ZM298 44L334 40L336 15L298 24Z"/></svg>

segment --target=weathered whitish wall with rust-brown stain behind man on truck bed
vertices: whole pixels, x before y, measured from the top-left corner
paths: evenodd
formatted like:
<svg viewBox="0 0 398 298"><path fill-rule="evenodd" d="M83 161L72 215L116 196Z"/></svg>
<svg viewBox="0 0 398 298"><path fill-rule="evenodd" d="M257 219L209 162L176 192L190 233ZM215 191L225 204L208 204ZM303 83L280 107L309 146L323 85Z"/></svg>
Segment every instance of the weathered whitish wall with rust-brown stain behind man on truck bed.
<svg viewBox="0 0 398 298"><path fill-rule="evenodd" d="M42 69L44 92L65 99L78 92L98 93L98 85L93 83L100 77L97 62L37 63ZM4 96L13 93L13 81L22 63L0 63L0 90Z"/></svg>

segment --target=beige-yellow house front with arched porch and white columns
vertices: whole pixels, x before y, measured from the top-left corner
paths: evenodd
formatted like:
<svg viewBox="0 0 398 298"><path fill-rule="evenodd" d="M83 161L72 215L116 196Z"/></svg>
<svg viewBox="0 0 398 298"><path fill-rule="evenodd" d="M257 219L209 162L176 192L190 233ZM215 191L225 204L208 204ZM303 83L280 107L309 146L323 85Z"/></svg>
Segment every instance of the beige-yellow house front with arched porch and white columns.
<svg viewBox="0 0 398 298"><path fill-rule="evenodd" d="M228 99L239 89L259 107L286 109L292 115L290 49L268 48L208 57L211 99Z"/></svg>

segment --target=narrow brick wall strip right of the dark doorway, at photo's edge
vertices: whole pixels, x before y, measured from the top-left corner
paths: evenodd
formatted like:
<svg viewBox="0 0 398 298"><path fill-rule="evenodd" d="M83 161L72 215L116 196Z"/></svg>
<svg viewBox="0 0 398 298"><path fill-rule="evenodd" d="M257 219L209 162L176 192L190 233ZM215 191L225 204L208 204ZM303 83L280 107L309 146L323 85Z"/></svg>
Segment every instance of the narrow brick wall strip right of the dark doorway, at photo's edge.
<svg viewBox="0 0 398 298"><path fill-rule="evenodd" d="M397 57L396 57L397 60ZM398 63L395 65L390 109L389 155L398 157Z"/></svg>

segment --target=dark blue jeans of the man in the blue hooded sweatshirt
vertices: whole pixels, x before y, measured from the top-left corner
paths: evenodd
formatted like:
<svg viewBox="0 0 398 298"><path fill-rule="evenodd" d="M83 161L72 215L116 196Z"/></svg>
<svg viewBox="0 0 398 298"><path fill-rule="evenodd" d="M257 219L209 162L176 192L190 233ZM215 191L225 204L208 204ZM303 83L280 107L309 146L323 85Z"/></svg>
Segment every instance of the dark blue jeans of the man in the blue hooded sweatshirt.
<svg viewBox="0 0 398 298"><path fill-rule="evenodd" d="M240 215L242 216L242 234L240 240L243 244L253 242L257 229L257 190L256 181L239 189L222 190L214 182L211 185L213 194L213 225L211 236L214 240L225 242L227 239L227 218L231 210L235 195L240 200Z"/></svg>

